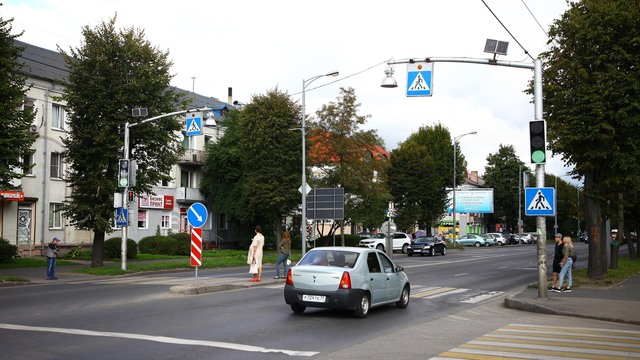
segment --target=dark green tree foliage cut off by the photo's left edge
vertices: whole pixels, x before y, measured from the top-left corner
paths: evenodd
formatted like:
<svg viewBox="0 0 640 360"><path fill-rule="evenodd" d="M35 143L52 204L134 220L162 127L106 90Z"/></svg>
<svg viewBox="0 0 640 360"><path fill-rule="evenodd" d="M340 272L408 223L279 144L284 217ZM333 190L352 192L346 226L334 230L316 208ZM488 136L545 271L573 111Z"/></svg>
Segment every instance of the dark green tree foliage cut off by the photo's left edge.
<svg viewBox="0 0 640 360"><path fill-rule="evenodd" d="M13 181L24 176L21 158L32 154L36 140L29 132L35 114L21 109L29 87L18 60L24 49L14 44L22 34L11 34L12 21L0 17L0 189L14 188Z"/></svg>

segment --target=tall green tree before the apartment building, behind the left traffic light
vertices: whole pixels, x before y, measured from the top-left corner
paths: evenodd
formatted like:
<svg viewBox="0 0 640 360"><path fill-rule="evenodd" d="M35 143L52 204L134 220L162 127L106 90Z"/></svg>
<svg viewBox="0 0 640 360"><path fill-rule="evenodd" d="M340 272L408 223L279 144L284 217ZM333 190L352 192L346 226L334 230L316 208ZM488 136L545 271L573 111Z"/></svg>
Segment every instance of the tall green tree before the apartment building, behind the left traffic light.
<svg viewBox="0 0 640 360"><path fill-rule="evenodd" d="M175 111L181 99L169 87L168 52L154 48L141 30L116 30L115 21L84 27L81 47L60 50L70 72L62 98L71 109L63 140L71 196L63 211L72 225L94 232L92 267L102 266L105 233L113 231L118 159L123 157L124 124L134 120L131 109L144 106L157 116ZM180 129L175 118L131 129L137 193L170 179L166 174L182 151L174 136Z"/></svg>

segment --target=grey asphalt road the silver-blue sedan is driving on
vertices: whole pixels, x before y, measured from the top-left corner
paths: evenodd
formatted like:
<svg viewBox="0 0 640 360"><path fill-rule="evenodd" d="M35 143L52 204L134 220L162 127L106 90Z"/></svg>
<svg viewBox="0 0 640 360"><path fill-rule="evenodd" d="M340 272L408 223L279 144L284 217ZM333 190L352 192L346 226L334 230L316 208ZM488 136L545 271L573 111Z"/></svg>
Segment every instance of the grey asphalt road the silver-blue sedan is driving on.
<svg viewBox="0 0 640 360"><path fill-rule="evenodd" d="M420 358L437 356L510 324L562 325L557 316L502 306L504 296L537 279L534 245L396 254L394 261L409 275L411 303L373 309L366 319L323 309L294 315L284 304L282 282L169 293L172 285L193 282L193 272L0 288L2 358L412 359L416 349ZM265 278L273 275L266 267ZM202 282L216 277L249 275L237 268L199 272ZM572 325L582 323L620 328L584 320Z"/></svg>

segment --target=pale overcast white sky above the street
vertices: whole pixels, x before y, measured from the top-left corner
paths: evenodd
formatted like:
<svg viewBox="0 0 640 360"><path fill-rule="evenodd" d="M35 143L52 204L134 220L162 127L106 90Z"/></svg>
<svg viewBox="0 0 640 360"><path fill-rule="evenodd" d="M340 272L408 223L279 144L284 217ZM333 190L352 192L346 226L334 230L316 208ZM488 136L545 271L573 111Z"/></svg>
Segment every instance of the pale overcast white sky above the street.
<svg viewBox="0 0 640 360"><path fill-rule="evenodd" d="M487 59L486 39L509 42L498 60L532 63L548 49L546 31L567 10L565 0L2 0L0 17L14 18L18 39L46 49L82 45L82 29L117 15L117 28L139 28L173 61L172 85L227 102L278 89L306 113L352 87L391 151L420 127L442 124L459 140L469 171L482 175L487 156L513 145L529 160L533 70L469 63L434 63L430 97L406 97L407 65L394 65L398 87L380 87L390 60L427 57ZM498 17L494 17L492 12ZM501 23L504 25L501 25ZM506 30L505 30L506 27ZM508 30L508 31L507 31ZM320 87L318 87L320 86ZM316 88L318 87L318 88ZM544 90L543 90L544 91ZM571 169L547 151L546 172ZM453 161L453 159L452 159ZM530 169L534 169L530 165ZM577 184L568 176L562 180ZM553 186L553 184L546 184Z"/></svg>

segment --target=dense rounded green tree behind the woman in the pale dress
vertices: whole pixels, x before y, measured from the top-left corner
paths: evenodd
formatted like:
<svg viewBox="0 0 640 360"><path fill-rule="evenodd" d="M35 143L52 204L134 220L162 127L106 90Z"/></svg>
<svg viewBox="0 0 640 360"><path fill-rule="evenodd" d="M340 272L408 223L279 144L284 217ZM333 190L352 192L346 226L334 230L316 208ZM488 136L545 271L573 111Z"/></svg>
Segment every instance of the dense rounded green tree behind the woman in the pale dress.
<svg viewBox="0 0 640 360"><path fill-rule="evenodd" d="M302 140L291 130L300 127L300 107L274 89L231 111L224 125L224 137L207 148L201 189L217 211L251 229L280 224L300 204Z"/></svg>

